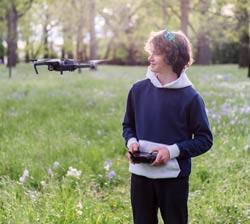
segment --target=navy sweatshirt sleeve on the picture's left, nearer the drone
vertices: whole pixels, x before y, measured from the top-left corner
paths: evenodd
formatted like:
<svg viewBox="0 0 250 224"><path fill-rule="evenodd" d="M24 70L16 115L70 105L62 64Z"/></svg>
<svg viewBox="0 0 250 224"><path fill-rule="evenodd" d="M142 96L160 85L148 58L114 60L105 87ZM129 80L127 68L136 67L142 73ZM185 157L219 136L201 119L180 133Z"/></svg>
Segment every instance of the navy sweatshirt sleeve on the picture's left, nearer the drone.
<svg viewBox="0 0 250 224"><path fill-rule="evenodd" d="M125 139L125 144L129 139L137 139L136 129L135 129L135 115L134 115L134 107L133 107L133 97L132 97L132 89L130 90L127 98L127 107L124 115L124 120L122 123L123 126L123 138Z"/></svg>

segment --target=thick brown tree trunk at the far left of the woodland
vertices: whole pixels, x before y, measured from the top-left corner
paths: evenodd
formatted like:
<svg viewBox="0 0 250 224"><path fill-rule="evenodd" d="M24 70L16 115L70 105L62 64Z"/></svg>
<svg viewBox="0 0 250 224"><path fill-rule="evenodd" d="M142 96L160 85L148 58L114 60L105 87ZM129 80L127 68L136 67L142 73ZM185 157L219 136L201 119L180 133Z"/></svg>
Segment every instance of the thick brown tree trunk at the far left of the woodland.
<svg viewBox="0 0 250 224"><path fill-rule="evenodd" d="M8 67L16 66L17 63L17 20L18 14L15 6L11 3L7 12L7 25L8 25L8 36L7 36L7 58L8 58Z"/></svg>

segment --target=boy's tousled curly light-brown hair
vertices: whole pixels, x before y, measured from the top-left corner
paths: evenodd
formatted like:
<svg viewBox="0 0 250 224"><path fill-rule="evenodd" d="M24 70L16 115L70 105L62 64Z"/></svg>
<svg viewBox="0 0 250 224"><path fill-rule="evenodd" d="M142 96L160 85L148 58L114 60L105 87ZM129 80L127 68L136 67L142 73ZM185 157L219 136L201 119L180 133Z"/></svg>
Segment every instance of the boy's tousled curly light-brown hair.
<svg viewBox="0 0 250 224"><path fill-rule="evenodd" d="M164 35L166 32L170 33L173 39L166 37ZM172 66L178 77L184 68L193 63L191 43L181 31L169 32L162 30L152 32L144 49L150 53L152 48L157 54L164 56L165 63Z"/></svg>

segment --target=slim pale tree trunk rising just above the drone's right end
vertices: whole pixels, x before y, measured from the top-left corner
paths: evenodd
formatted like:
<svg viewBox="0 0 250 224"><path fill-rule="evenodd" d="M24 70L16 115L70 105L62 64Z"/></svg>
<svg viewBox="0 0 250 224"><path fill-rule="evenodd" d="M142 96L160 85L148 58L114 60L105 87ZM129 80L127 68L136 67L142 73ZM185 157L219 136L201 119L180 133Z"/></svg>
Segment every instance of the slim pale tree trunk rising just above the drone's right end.
<svg viewBox="0 0 250 224"><path fill-rule="evenodd" d="M96 2L90 0L89 9L89 29L90 29L90 59L97 59L96 53L96 33L95 33L95 14L96 14Z"/></svg>

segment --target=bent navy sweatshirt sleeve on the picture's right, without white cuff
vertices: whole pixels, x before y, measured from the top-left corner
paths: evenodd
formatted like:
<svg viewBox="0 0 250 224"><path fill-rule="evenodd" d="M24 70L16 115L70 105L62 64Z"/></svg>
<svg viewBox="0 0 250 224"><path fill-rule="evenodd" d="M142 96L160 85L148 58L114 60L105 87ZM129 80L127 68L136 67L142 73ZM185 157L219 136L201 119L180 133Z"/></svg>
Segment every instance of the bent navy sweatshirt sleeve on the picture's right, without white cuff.
<svg viewBox="0 0 250 224"><path fill-rule="evenodd" d="M177 143L179 157L195 157L208 151L213 145L205 104L199 94L191 102L188 113L188 126L192 139Z"/></svg>

